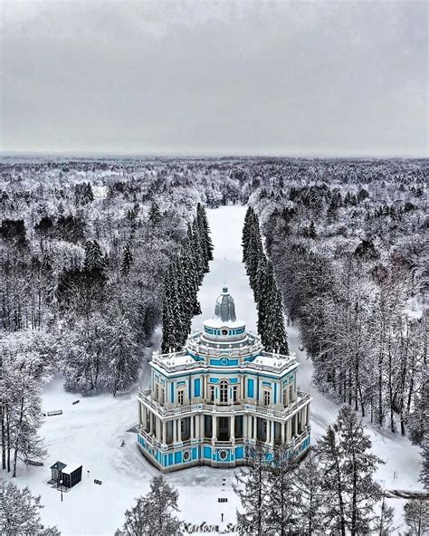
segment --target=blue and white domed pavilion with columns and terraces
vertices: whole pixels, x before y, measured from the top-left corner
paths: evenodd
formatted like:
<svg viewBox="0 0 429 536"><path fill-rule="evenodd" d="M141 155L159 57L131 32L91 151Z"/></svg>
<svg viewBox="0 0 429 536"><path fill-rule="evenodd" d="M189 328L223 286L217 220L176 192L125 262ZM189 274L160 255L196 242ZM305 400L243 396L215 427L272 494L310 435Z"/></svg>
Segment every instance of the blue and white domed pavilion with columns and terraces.
<svg viewBox="0 0 429 536"><path fill-rule="evenodd" d="M151 388L138 394L138 446L161 471L246 463L246 445L310 446L310 395L297 391L298 362L264 351L235 317L224 288L215 316L183 351L150 363Z"/></svg>

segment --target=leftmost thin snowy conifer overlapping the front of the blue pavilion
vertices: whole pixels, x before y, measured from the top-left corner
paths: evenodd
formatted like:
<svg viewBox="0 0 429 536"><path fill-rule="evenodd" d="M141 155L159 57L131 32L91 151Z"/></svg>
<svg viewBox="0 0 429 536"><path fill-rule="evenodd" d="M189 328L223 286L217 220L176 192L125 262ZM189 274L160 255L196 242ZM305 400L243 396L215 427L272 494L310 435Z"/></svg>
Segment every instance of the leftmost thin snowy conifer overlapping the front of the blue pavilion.
<svg viewBox="0 0 429 536"><path fill-rule="evenodd" d="M272 466L267 455L261 444L248 447L248 465L235 473L234 492L243 508L243 512L237 511L237 526L239 531L255 536L262 536L270 526L268 504Z"/></svg>

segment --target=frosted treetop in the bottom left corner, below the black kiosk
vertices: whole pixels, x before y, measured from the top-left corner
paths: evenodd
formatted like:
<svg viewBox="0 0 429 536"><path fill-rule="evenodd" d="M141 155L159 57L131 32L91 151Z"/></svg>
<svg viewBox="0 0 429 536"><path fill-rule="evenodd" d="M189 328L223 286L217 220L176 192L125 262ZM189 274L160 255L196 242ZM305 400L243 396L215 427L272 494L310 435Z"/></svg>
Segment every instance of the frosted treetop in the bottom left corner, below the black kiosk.
<svg viewBox="0 0 429 536"><path fill-rule="evenodd" d="M56 527L44 528L40 519L40 496L25 487L0 479L0 534L2 536L60 536Z"/></svg>

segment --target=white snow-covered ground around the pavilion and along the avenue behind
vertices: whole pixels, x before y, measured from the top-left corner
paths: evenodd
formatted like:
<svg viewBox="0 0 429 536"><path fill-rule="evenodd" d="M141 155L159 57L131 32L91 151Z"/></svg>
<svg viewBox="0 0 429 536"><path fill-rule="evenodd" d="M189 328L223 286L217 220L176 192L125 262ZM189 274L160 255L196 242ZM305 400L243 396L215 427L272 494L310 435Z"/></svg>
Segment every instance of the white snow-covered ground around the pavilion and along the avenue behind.
<svg viewBox="0 0 429 536"><path fill-rule="evenodd" d="M245 207L221 207L208 210L207 214L215 260L199 292L203 314L195 317L193 327L201 329L202 321L213 316L215 299L227 285L234 297L237 316L247 321L248 329L255 330L253 294L242 263ZM297 331L293 327L288 331L291 351L296 352L301 364L298 383L302 390L310 390L313 397L314 442L333 422L338 406L311 387L311 363L299 349ZM143 383L145 378L141 381ZM110 395L84 398L65 393L61 378L56 378L43 392L43 411L62 409L62 416L48 417L43 423L41 434L48 449L45 466L21 468L15 482L28 485L34 494L42 495L43 522L57 525L64 536L112 535L122 525L123 512L135 497L147 493L151 477L157 474L138 452L135 435L127 432L138 420L136 391L137 388L129 395L116 398ZM78 398L79 404L72 405ZM400 436L380 433L371 426L367 431L375 454L386 461L378 472L380 482L386 488L419 488L418 449ZM120 446L122 441L125 441L123 447ZM64 493L62 503L61 494L46 483L50 478L49 466L57 460L83 464L82 482ZM102 484L95 484L94 478ZM179 491L180 517L186 522L219 525L221 531L227 523L234 523L238 506L232 489L234 470L194 467L168 474L167 479ZM227 497L228 502L218 503L218 497ZM402 507L402 502L397 500L390 503ZM397 508L397 519L399 512ZM224 522L221 522L222 513Z"/></svg>

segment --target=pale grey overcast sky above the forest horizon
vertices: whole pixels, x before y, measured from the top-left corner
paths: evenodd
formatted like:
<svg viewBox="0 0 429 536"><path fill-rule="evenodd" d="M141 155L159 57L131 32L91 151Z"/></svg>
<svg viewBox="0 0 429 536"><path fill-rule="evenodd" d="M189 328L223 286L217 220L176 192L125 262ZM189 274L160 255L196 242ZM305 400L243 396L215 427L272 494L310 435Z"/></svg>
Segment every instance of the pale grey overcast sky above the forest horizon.
<svg viewBox="0 0 429 536"><path fill-rule="evenodd" d="M5 152L427 156L426 2L0 1Z"/></svg>

